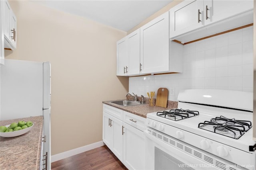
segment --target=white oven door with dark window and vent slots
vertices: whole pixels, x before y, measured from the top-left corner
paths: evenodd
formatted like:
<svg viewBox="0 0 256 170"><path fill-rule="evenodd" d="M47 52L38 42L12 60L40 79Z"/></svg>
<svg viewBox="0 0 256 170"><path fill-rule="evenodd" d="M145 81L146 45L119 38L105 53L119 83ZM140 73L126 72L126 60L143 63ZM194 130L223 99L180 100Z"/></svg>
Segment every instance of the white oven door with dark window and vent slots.
<svg viewBox="0 0 256 170"><path fill-rule="evenodd" d="M216 170L220 167L207 161L205 153L191 145L156 130L144 131L146 145L146 170ZM197 151L198 150L198 151ZM206 161L204 159L206 158Z"/></svg>

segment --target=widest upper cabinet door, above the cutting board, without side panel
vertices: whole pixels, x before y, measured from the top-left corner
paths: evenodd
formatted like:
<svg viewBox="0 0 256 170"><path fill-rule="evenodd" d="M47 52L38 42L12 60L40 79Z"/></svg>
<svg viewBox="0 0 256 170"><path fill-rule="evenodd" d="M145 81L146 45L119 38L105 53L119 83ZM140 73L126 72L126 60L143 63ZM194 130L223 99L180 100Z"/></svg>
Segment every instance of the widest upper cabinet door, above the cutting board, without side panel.
<svg viewBox="0 0 256 170"><path fill-rule="evenodd" d="M140 28L142 73L169 70L169 12Z"/></svg>

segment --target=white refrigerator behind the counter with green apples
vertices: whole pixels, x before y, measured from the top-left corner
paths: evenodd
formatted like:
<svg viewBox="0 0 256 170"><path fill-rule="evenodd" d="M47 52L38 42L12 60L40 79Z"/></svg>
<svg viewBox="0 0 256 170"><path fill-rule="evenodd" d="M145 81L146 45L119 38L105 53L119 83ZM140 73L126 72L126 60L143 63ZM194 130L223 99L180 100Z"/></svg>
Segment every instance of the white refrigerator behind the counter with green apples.
<svg viewBox="0 0 256 170"><path fill-rule="evenodd" d="M51 168L51 70L49 62L5 60L0 66L0 120L44 117L42 155ZM46 153L47 152L47 153ZM41 165L45 168L46 165Z"/></svg>

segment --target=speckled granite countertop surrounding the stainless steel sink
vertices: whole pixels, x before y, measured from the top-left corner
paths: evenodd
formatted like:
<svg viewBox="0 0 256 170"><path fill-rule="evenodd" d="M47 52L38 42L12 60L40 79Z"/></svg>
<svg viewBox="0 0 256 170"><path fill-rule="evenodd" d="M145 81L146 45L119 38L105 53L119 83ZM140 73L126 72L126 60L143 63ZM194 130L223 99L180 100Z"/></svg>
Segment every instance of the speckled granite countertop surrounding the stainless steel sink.
<svg viewBox="0 0 256 170"><path fill-rule="evenodd" d="M152 113L155 111L168 110L168 109L173 109L173 108L178 107L178 102L174 102L174 101L168 101L167 107L165 108L165 107L159 107L159 106L149 106L148 98L145 98L144 100L145 100L145 104L140 104L140 105L136 105L136 106L120 106L118 104L111 103L112 101L115 101L115 100L105 101L102 103L107 104L109 106L116 107L116 108L124 110L124 111L128 111L130 113L133 113L135 115L138 115L138 116L141 116L144 118L147 117L148 113ZM156 102L154 102L154 103L156 103Z"/></svg>

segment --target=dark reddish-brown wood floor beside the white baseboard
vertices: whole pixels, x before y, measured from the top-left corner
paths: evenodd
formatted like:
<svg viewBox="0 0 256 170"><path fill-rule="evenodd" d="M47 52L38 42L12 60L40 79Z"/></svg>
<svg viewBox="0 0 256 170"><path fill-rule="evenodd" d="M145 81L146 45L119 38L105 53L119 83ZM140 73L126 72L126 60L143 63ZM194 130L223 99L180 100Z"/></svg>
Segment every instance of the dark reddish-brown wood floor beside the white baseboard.
<svg viewBox="0 0 256 170"><path fill-rule="evenodd" d="M52 170L128 170L106 147L98 147L52 162Z"/></svg>

